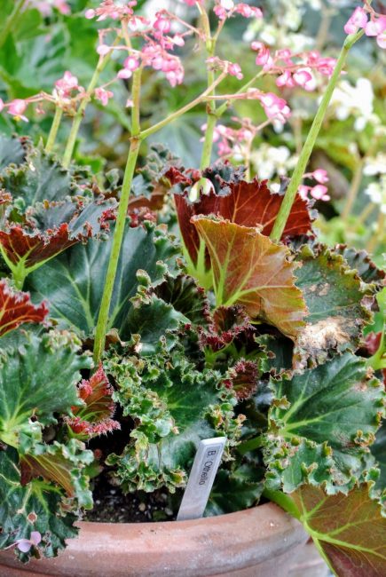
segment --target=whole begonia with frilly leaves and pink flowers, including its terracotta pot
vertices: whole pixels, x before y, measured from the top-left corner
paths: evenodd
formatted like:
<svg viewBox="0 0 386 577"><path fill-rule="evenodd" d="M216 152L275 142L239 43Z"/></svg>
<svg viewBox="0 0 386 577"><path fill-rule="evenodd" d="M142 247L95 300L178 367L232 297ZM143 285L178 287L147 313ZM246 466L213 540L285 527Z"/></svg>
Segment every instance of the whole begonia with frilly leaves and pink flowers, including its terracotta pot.
<svg viewBox="0 0 386 577"><path fill-rule="evenodd" d="M382 575L384 337L364 330L384 315L385 275L366 252L319 241L308 196L327 195L327 175L306 170L351 46L366 32L382 47L384 17L358 7L337 60L254 43L259 68L245 81L217 56L218 39L233 16L261 19L259 8L218 0L211 20L206 3L185 0L199 12L192 23L166 9L149 20L136 4L85 13L110 19L87 89L66 72L52 94L2 102L16 118L43 102L55 115L45 146L0 140L0 572L284 575L309 534L336 574ZM175 50L191 37L207 52L207 88L144 128L148 69L182 83ZM88 103L113 97L113 81L99 83L112 55L123 62L114 81L130 82L122 179L72 160ZM241 88L221 92L229 75ZM262 75L308 90L328 78L276 191L249 174L262 127L218 129L237 99L259 103L264 125L286 122L286 100L255 87ZM202 103L199 168L164 146L138 166L146 138ZM214 138L225 157L247 143L244 164L211 164ZM207 517L165 523L200 440L213 437L226 446ZM162 522L119 523L128 503L131 520L152 510Z"/></svg>

